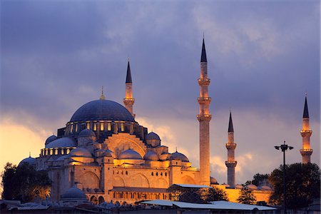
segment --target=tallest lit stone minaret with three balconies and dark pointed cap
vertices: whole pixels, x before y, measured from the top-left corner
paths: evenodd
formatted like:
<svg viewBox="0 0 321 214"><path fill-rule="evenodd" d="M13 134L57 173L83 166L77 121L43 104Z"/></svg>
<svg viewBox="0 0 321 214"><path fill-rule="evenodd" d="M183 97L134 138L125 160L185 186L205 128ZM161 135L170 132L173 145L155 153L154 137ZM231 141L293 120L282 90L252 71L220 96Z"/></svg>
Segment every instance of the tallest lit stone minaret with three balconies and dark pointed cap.
<svg viewBox="0 0 321 214"><path fill-rule="evenodd" d="M206 58L205 43L203 37L202 56L200 57L200 113L197 115L200 122L200 185L210 185L210 97L208 97L208 61Z"/></svg>

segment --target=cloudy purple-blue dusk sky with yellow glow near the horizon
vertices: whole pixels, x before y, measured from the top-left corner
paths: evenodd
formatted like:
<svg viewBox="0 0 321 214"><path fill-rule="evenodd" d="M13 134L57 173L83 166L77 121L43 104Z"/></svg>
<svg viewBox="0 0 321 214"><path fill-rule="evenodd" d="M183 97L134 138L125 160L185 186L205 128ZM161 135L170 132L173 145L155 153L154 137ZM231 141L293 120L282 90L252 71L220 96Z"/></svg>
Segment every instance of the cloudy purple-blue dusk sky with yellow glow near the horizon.
<svg viewBox="0 0 321 214"><path fill-rule="evenodd" d="M136 121L197 166L201 43L210 96L211 175L226 183L233 113L236 182L295 149L307 92L312 162L320 163L319 1L1 1L1 170L38 156L84 103L122 103L131 61Z"/></svg>

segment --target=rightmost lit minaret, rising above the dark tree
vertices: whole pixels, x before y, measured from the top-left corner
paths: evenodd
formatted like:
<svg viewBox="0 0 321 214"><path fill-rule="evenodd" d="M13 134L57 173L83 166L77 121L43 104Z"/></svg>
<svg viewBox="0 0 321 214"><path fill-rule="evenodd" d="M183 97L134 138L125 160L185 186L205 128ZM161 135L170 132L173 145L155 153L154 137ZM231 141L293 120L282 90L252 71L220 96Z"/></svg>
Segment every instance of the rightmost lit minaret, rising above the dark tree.
<svg viewBox="0 0 321 214"><path fill-rule="evenodd" d="M313 150L310 146L310 136L312 135L312 130L310 129L309 111L307 111L307 94L305 94L305 109L303 111L302 130L300 133L302 136L302 149L300 149L302 163L311 163Z"/></svg>

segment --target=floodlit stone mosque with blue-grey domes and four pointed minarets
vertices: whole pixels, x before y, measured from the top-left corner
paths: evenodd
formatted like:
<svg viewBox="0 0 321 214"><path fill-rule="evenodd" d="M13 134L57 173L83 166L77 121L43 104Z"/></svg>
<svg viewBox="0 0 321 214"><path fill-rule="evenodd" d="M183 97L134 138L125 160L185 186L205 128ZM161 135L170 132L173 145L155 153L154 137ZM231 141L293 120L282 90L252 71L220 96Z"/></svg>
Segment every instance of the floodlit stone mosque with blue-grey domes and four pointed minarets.
<svg viewBox="0 0 321 214"><path fill-rule="evenodd" d="M104 201L135 203L138 200L169 199L166 189L173 184L218 185L210 177L210 119L208 96L208 66L205 43L200 58L200 106L197 119L200 124L200 168L193 167L183 153L168 153L157 133L135 121L133 113L133 81L128 61L126 96L124 106L106 100L101 92L98 100L90 101L73 113L57 136L46 139L37 158L25 158L22 163L34 165L36 170L46 170L52 180L51 199L54 201L70 195L86 195L94 204ZM301 134L304 161L310 161L310 130L307 102ZM228 194L242 188L235 185L235 148L232 116L228 126ZM221 186L222 188L222 186ZM252 187L255 190L255 187ZM271 189L267 188L267 193ZM82 193L78 193L82 190ZM258 190L258 188L256 188ZM262 187L264 190L264 187ZM232 191L232 192L231 192ZM68 194L67 194L68 193ZM77 193L77 194L76 194ZM67 196L68 197L67 197ZM265 194L266 195L266 194ZM236 197L236 196L235 196Z"/></svg>

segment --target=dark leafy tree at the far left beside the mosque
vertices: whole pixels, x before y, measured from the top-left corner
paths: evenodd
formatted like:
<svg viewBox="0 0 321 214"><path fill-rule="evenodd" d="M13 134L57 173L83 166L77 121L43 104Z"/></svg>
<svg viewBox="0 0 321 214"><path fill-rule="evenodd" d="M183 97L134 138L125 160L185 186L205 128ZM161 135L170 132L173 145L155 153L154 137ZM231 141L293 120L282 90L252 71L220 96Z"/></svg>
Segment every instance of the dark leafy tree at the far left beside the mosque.
<svg viewBox="0 0 321 214"><path fill-rule="evenodd" d="M50 195L51 180L46 171L36 171L32 165L23 163L16 167L6 163L1 173L2 198L29 202L37 196L46 199Z"/></svg>

